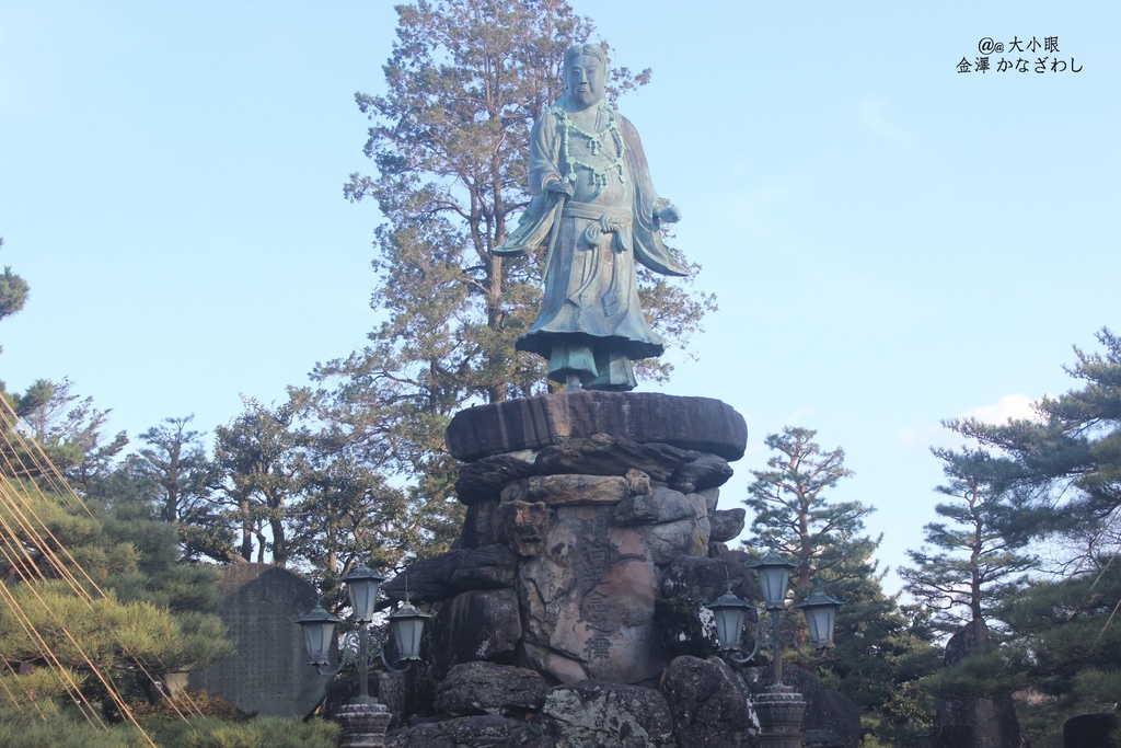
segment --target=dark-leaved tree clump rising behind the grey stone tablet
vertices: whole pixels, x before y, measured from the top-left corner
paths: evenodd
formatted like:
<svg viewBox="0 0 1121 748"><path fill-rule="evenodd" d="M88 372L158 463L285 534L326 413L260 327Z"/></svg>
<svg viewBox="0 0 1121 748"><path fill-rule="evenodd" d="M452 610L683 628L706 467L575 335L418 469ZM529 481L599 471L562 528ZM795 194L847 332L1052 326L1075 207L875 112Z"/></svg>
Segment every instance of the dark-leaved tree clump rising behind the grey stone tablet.
<svg viewBox="0 0 1121 748"><path fill-rule="evenodd" d="M311 567L331 591L359 564L396 566L432 536L424 530L433 520L410 512L405 490L390 484L381 442L350 438L299 390L278 407L244 405L216 430L225 508L185 518L195 523L191 537L232 523L243 558L256 548L259 562Z"/></svg>

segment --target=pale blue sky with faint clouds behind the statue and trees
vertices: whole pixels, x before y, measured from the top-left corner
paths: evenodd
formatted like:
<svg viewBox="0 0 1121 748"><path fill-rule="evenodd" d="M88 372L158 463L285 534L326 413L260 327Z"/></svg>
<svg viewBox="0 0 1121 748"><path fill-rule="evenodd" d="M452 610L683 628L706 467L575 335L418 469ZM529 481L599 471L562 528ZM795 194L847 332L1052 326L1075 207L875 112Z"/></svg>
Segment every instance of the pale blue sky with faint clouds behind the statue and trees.
<svg viewBox="0 0 1121 748"><path fill-rule="evenodd" d="M664 389L751 433L722 506L766 434L816 428L899 564L934 519L939 422L1068 389L1071 347L1117 326L1121 8L573 4L654 68L620 110L720 303ZM31 285L0 379L68 376L133 436L211 431L362 345L379 216L342 185L370 166L353 94L381 91L395 22L376 1L0 0L0 265ZM958 73L985 37L1059 52Z"/></svg>

